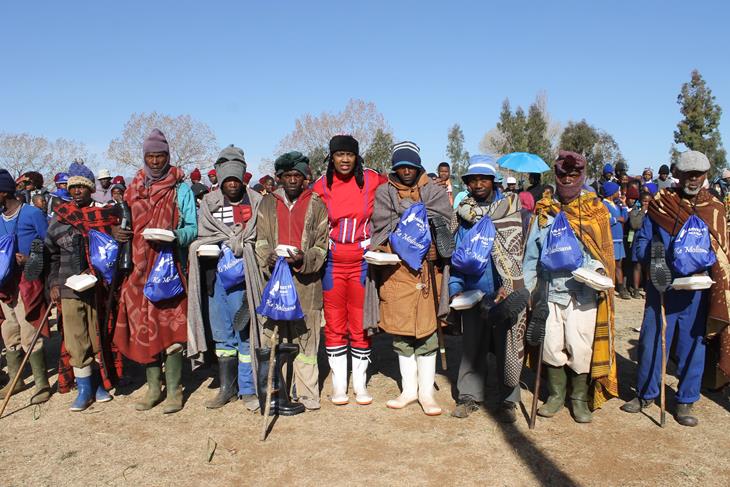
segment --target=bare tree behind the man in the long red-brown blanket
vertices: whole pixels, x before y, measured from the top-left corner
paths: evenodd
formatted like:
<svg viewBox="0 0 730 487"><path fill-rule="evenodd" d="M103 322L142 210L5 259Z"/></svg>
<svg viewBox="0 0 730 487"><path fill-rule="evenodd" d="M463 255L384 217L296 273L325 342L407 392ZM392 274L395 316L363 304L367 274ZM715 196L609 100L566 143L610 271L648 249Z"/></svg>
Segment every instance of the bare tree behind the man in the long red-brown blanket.
<svg viewBox="0 0 730 487"><path fill-rule="evenodd" d="M110 159L132 167L142 165L142 143L154 128L160 129L170 144L170 162L185 171L213 166L218 143L213 130L190 115L176 117L162 113L133 113L124 125L122 136L107 149Z"/></svg>

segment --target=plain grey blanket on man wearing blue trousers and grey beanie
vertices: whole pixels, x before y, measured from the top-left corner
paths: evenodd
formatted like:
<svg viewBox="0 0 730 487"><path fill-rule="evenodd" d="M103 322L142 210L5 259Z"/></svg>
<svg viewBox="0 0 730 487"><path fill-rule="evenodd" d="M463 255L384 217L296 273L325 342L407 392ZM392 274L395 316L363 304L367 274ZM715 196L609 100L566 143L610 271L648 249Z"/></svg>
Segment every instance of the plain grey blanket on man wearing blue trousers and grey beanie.
<svg viewBox="0 0 730 487"><path fill-rule="evenodd" d="M249 327L251 346L252 348L259 346L263 318L256 314L255 309L261 303L264 285L259 265L256 262L255 245L256 217L263 196L248 187L246 187L246 192L251 202L251 219L245 227L241 224L229 227L213 216L215 211L223 207L223 193L220 191L208 193L200 202L198 238L190 244L188 251L188 262L190 263L188 271L188 358L192 360L193 368L203 363L203 352L208 349L203 327L203 296L200 285L200 262L198 261L198 249L201 245L225 242L236 257L243 256L246 267L246 302L251 323Z"/></svg>

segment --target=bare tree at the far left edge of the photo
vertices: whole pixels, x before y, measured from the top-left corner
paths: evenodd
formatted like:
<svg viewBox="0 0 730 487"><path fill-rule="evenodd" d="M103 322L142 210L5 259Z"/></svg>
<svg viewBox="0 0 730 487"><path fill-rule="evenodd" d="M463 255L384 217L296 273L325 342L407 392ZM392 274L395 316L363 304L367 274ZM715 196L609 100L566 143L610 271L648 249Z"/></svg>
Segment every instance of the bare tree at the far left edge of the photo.
<svg viewBox="0 0 730 487"><path fill-rule="evenodd" d="M13 176L38 171L46 178L64 171L74 159L94 161L83 142L59 138L51 142L43 136L0 134L0 167Z"/></svg>

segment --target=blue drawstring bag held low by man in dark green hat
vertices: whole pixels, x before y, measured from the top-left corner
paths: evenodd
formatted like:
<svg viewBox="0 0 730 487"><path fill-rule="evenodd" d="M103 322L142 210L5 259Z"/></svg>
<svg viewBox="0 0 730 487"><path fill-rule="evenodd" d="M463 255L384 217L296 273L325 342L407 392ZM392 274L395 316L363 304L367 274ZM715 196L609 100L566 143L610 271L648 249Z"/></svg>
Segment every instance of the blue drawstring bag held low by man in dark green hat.
<svg viewBox="0 0 730 487"><path fill-rule="evenodd" d="M261 304L256 308L256 312L279 321L296 321L304 318L299 296L294 287L294 279L284 257L276 259L274 272L264 288Z"/></svg>

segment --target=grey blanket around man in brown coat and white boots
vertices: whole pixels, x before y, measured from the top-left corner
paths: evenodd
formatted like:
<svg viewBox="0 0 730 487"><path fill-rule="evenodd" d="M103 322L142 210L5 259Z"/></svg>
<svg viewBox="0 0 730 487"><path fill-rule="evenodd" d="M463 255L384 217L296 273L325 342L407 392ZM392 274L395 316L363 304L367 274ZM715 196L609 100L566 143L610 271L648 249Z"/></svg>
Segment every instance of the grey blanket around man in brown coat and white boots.
<svg viewBox="0 0 730 487"><path fill-rule="evenodd" d="M421 202L426 205L429 220L441 216L451 221L453 209L449 203L446 189L429 181L420 189ZM398 196L398 190L392 184L383 184L375 192L375 205L373 208L373 236L370 240L370 248L374 249L386 243L390 234L395 231L398 221L403 213L416 202ZM439 293L439 309L437 318L445 319L449 314L449 268L446 264L443 268L443 279ZM363 328L368 335L378 331L380 322L380 296L375 275L372 269L368 269L365 279L365 303L363 306Z"/></svg>

